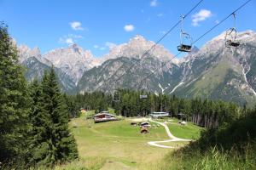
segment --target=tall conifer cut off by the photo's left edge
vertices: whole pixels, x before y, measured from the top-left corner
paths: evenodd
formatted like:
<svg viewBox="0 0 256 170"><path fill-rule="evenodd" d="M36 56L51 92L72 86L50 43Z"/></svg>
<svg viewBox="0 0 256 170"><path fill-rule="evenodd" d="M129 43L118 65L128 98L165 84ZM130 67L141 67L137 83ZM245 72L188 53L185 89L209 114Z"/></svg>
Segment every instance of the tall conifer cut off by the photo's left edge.
<svg viewBox="0 0 256 170"><path fill-rule="evenodd" d="M26 154L29 98L23 69L9 37L0 23L0 161L13 161ZM20 142L22 141L22 142Z"/></svg>

